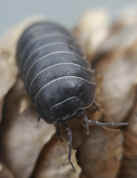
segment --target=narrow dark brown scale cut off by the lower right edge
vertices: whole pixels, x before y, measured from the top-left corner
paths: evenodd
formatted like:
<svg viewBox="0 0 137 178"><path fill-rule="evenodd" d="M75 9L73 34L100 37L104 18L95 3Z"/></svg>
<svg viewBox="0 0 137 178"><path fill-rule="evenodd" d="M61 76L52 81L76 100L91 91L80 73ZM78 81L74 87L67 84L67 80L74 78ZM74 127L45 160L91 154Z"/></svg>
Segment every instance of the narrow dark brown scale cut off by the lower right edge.
<svg viewBox="0 0 137 178"><path fill-rule="evenodd" d="M119 178L137 177L137 105L125 130L124 155Z"/></svg>

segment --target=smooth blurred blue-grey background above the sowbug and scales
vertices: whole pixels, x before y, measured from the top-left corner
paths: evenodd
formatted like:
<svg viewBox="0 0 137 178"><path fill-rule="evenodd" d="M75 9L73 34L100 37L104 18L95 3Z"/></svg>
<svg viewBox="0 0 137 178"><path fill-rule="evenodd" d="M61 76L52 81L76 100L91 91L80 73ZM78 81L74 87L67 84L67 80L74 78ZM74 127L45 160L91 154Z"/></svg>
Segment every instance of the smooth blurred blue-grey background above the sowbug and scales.
<svg viewBox="0 0 137 178"><path fill-rule="evenodd" d="M71 27L85 10L107 8L115 16L127 7L137 8L137 0L1 0L0 33L32 15L44 14Z"/></svg>

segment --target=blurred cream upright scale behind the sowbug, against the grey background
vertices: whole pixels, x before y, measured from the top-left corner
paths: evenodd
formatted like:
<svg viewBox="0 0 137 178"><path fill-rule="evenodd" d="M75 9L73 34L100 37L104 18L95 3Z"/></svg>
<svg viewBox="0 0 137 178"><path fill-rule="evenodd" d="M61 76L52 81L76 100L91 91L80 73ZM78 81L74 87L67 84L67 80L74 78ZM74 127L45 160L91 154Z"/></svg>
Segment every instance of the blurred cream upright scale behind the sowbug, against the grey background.
<svg viewBox="0 0 137 178"><path fill-rule="evenodd" d="M109 19L105 10L85 12L73 29L73 34L90 61L108 35Z"/></svg>

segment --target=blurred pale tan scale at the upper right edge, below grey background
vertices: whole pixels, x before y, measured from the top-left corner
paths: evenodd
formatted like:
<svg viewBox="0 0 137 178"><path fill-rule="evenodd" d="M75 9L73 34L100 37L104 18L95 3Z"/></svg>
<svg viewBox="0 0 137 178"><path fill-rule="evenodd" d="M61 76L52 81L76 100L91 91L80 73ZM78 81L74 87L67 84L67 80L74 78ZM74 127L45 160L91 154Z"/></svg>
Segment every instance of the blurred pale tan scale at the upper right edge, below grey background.
<svg viewBox="0 0 137 178"><path fill-rule="evenodd" d="M119 49L127 49L137 39L137 13L122 12L118 19L109 26L109 33L105 41L97 49L97 56ZM90 50L90 49L89 49ZM95 56L96 57L96 56Z"/></svg>

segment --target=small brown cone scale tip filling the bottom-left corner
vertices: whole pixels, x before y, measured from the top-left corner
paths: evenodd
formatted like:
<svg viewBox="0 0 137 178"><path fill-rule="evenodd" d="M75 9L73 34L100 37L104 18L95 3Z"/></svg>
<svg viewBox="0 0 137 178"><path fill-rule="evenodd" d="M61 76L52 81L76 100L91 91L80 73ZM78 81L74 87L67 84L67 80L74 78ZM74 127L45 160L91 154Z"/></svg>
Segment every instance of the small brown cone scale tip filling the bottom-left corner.
<svg viewBox="0 0 137 178"><path fill-rule="evenodd" d="M0 178L14 178L11 171L0 162Z"/></svg>

